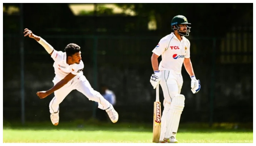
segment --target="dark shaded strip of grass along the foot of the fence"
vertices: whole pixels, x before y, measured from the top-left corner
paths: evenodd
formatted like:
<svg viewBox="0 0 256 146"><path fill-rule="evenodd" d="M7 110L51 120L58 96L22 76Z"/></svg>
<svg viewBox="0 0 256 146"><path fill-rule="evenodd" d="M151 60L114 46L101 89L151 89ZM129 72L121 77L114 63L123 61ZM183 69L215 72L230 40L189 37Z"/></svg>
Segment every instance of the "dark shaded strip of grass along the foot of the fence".
<svg viewBox="0 0 256 146"><path fill-rule="evenodd" d="M209 127L208 123L180 123L179 132L211 133L211 132L253 132L253 123L214 123ZM153 124L148 123L102 123L97 120L76 120L74 122L60 122L58 126L48 122L33 122L21 125L15 122L3 123L3 129L12 130L70 130L70 131L129 131L152 132Z"/></svg>

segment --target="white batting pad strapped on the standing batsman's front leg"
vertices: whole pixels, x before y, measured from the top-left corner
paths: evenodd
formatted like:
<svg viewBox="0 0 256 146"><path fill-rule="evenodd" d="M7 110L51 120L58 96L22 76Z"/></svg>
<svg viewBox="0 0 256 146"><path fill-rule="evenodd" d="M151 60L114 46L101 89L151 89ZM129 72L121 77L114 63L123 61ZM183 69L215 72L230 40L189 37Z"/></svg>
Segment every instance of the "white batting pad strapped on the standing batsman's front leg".
<svg viewBox="0 0 256 146"><path fill-rule="evenodd" d="M174 96L170 105L170 110L166 114L167 127L165 138L176 137L178 126L180 123L180 116L185 106L185 96L177 94Z"/></svg>

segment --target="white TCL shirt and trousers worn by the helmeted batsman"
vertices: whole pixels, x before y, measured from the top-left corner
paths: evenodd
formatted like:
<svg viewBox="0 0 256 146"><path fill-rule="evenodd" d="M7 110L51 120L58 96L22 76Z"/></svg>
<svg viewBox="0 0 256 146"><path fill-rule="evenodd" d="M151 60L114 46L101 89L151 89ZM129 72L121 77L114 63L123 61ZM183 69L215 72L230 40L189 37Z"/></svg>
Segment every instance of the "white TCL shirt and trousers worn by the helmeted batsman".
<svg viewBox="0 0 256 146"><path fill-rule="evenodd" d="M190 57L190 42L184 36L179 41L172 32L163 37L152 52L158 56L162 55L162 61L159 63L160 85L164 102L170 103L173 96L181 92L183 84L181 68L184 59Z"/></svg>

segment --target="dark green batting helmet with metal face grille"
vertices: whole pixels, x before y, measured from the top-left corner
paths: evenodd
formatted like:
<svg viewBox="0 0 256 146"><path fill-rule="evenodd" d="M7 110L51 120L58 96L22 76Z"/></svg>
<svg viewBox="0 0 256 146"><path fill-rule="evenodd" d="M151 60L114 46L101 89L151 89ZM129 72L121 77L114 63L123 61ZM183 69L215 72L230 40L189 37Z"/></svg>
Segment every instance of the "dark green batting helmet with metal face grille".
<svg viewBox="0 0 256 146"><path fill-rule="evenodd" d="M183 28L183 27L179 27L178 26L179 24L187 24L187 27L186 27L187 31L180 31L180 28ZM172 22L171 22L172 30L173 31L177 30L178 34L184 35L184 36L189 35L191 27L188 27L188 24L191 24L191 23L188 23L187 18L185 16L182 16L182 15L175 16L172 19ZM174 26L175 26L175 28L174 28Z"/></svg>

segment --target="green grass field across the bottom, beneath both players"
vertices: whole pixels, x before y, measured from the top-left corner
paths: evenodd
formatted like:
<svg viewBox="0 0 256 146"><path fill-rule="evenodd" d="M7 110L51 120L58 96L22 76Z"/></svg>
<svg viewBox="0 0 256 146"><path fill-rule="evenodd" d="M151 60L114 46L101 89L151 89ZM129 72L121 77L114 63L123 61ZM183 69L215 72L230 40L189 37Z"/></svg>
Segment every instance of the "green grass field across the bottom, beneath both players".
<svg viewBox="0 0 256 146"><path fill-rule="evenodd" d="M253 130L180 125L179 143L253 143ZM28 124L4 126L4 143L151 143L152 128L143 124Z"/></svg>

